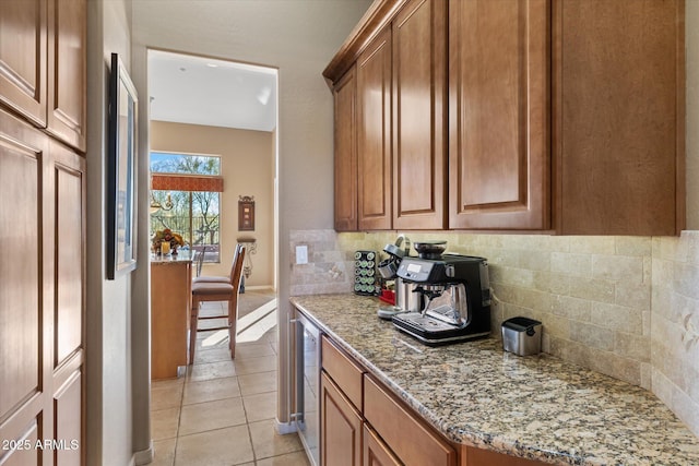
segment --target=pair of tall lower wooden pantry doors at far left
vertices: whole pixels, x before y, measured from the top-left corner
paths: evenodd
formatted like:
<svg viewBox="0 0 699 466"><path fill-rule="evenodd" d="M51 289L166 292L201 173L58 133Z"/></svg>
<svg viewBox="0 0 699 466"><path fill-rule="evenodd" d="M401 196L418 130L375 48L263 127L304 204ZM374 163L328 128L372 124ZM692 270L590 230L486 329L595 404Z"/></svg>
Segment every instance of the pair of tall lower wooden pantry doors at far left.
<svg viewBox="0 0 699 466"><path fill-rule="evenodd" d="M85 160L0 111L3 464L84 464ZM71 442L42 454L36 441ZM2 452L5 453L5 452Z"/></svg>

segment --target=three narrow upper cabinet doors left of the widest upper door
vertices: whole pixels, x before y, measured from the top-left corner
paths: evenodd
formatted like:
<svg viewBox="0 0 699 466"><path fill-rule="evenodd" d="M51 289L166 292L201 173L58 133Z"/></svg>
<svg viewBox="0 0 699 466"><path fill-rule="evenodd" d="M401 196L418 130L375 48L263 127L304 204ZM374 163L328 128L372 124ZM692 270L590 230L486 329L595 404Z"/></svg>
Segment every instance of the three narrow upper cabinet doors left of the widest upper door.
<svg viewBox="0 0 699 466"><path fill-rule="evenodd" d="M446 227L447 2L386 3L398 14L333 86L339 231Z"/></svg>

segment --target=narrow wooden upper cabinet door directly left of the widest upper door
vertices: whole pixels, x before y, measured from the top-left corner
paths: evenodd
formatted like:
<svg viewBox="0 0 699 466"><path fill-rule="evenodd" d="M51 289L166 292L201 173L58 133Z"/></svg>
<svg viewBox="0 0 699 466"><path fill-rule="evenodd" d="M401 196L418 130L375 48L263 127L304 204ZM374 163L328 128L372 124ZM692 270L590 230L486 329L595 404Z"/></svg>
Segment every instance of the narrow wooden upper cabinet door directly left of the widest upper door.
<svg viewBox="0 0 699 466"><path fill-rule="evenodd" d="M446 227L447 3L412 0L393 20L393 228Z"/></svg>

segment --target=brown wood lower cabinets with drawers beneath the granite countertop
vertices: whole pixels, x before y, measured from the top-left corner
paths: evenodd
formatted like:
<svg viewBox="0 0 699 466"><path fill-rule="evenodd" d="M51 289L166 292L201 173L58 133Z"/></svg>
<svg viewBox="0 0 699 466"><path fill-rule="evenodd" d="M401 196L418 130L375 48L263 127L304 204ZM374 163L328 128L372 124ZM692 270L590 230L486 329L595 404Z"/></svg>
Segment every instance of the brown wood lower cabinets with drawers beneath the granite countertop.
<svg viewBox="0 0 699 466"><path fill-rule="evenodd" d="M537 461L455 444L322 337L322 466L535 466Z"/></svg>

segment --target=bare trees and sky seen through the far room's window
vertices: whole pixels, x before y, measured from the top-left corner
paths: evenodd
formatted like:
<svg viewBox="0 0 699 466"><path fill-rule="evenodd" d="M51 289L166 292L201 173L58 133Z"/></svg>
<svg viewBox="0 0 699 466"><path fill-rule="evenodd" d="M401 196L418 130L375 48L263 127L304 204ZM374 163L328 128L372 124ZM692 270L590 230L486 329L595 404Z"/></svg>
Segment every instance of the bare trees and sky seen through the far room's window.
<svg viewBox="0 0 699 466"><path fill-rule="evenodd" d="M187 184L187 178L217 177L221 159L216 156L151 153L151 172L164 177L174 188ZM202 251L205 262L220 262L220 193L213 191L152 190L151 237L169 228L182 236L183 249Z"/></svg>

